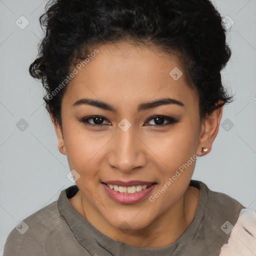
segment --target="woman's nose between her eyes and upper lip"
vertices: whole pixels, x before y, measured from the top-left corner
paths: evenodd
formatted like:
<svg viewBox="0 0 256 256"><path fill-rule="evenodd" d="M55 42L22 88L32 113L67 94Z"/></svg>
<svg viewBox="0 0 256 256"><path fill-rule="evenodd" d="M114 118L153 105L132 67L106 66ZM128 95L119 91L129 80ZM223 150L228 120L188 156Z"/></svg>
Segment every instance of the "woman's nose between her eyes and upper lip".
<svg viewBox="0 0 256 256"><path fill-rule="evenodd" d="M134 132L131 125L126 131L116 128L116 134L111 140L108 164L122 172L133 172L136 167L146 164L146 146L139 132Z"/></svg>

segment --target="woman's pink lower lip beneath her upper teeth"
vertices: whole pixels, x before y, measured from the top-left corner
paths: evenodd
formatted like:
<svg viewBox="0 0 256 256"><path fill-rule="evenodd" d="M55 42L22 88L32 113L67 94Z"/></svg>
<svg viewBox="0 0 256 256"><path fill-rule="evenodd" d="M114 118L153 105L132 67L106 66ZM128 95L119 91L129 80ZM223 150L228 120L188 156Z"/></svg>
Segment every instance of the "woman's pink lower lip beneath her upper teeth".
<svg viewBox="0 0 256 256"><path fill-rule="evenodd" d="M101 184L103 185L105 191L113 200L123 204L131 204L131 203L136 203L143 200L156 186L156 184L153 184L148 188L143 189L139 192L136 192L134 194L129 194L129 193L116 192L115 190L110 189L106 184L104 183L101 183Z"/></svg>

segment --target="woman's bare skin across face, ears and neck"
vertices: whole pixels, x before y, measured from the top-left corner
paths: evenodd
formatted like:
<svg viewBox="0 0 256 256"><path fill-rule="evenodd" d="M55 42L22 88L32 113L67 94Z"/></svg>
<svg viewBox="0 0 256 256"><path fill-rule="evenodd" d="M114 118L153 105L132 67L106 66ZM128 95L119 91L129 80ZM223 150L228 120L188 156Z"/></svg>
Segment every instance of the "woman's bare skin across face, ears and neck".
<svg viewBox="0 0 256 256"><path fill-rule="evenodd" d="M202 146L208 150L200 156L211 150L222 107L200 122L196 92L185 83L184 75L178 80L169 75L174 67L183 74L185 70L175 57L156 48L119 42L97 49L99 52L74 76L63 96L63 134L51 116L58 148L63 145L59 150L67 155L70 170L80 175L76 180L79 191L69 202L84 216L82 194L84 217L115 240L135 247L167 246L183 234L195 215L199 190L188 186L195 161L154 202L148 197ZM72 106L85 97L107 102L117 111L87 104ZM181 101L184 107L165 104L137 111L140 103L165 97ZM92 127L79 121L91 115L104 117L103 125ZM170 116L178 122L157 127L150 119L155 115ZM118 127L123 118L131 123L126 131ZM94 123L93 119L89 122ZM157 186L142 201L121 204L104 191L104 180L155 181Z"/></svg>

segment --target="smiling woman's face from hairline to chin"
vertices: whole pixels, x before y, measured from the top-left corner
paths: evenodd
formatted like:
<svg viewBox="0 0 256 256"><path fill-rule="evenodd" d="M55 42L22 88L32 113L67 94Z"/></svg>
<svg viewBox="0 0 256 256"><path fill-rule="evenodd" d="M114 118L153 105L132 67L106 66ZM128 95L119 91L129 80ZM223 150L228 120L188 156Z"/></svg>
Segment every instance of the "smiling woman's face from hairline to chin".
<svg viewBox="0 0 256 256"><path fill-rule="evenodd" d="M63 96L59 143L85 213L91 209L116 228L141 229L175 205L189 184L204 146L198 97L178 60L155 48L118 43L97 50L76 67ZM93 116L99 117L85 122Z"/></svg>

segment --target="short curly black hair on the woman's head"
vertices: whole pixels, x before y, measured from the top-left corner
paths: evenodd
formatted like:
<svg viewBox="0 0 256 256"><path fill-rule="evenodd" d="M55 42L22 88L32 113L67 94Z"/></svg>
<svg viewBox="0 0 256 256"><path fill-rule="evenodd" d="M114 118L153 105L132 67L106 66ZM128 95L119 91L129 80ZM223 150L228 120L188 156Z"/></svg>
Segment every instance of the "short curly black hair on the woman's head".
<svg viewBox="0 0 256 256"><path fill-rule="evenodd" d="M220 74L231 50L210 0L51 0L39 21L45 35L29 73L41 80L45 107L61 128L67 86L56 93L57 86L93 45L110 42L153 45L178 56L188 86L199 96L200 120L232 101Z"/></svg>

